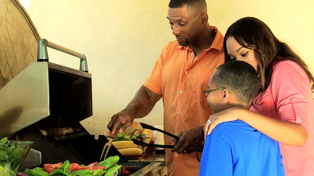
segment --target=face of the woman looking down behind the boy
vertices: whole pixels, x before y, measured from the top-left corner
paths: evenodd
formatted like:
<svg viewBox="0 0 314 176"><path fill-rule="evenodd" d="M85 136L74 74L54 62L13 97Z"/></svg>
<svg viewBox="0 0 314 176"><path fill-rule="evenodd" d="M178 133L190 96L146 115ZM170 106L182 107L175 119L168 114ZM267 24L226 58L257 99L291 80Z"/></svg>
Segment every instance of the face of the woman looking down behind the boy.
<svg viewBox="0 0 314 176"><path fill-rule="evenodd" d="M229 37L226 41L228 55L232 60L244 61L255 68L256 71L259 69L259 65L254 56L254 50L248 49L241 46L236 42L234 37Z"/></svg>

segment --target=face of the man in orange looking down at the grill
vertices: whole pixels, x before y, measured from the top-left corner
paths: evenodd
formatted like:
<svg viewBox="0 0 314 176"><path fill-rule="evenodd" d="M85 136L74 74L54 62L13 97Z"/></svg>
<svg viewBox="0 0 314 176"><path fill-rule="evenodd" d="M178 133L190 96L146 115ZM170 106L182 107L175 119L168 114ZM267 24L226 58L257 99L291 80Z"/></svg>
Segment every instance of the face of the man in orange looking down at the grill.
<svg viewBox="0 0 314 176"><path fill-rule="evenodd" d="M201 14L184 5L181 8L168 8L167 19L173 35L181 46L187 46L199 35L202 28Z"/></svg>

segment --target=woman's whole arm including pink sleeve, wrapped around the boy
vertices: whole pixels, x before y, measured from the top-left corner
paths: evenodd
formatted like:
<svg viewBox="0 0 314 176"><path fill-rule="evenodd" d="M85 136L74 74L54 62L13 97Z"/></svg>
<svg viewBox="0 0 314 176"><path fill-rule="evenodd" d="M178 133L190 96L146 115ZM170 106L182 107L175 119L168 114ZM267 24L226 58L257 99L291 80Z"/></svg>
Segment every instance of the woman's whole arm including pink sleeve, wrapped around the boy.
<svg viewBox="0 0 314 176"><path fill-rule="evenodd" d="M309 110L314 108L311 85L306 73L292 61L280 62L274 67L267 89L271 93L271 99L260 100L263 102L262 106L266 106L265 109L271 108L267 102L273 101L281 120L250 110L231 108L211 115L209 119L212 124L210 127L209 123L205 124L205 134L210 133L219 123L239 119L278 142L304 146L308 139L306 128L311 128L307 126L308 119L312 118ZM263 110L258 112L263 113Z"/></svg>

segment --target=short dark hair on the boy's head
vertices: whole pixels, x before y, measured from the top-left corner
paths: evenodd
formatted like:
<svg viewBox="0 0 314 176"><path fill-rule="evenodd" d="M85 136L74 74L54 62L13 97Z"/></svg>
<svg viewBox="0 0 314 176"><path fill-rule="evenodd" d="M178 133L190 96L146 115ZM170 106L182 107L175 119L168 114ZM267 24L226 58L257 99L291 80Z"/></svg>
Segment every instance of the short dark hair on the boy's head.
<svg viewBox="0 0 314 176"><path fill-rule="evenodd" d="M232 61L218 66L211 81L217 88L227 88L241 103L252 103L261 82L253 66L243 61Z"/></svg>

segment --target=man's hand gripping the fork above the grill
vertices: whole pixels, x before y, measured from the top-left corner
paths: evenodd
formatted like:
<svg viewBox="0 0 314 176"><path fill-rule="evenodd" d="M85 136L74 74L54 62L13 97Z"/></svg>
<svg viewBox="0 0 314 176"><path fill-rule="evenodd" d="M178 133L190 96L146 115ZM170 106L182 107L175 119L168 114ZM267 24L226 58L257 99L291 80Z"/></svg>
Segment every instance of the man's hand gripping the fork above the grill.
<svg viewBox="0 0 314 176"><path fill-rule="evenodd" d="M114 134L116 130L119 130L120 132L125 131L128 127L130 127L133 123L134 116L131 110L124 109L121 112L114 114L111 117L111 120L107 126L107 128L110 130L111 134ZM122 124L119 129L119 124Z"/></svg>

